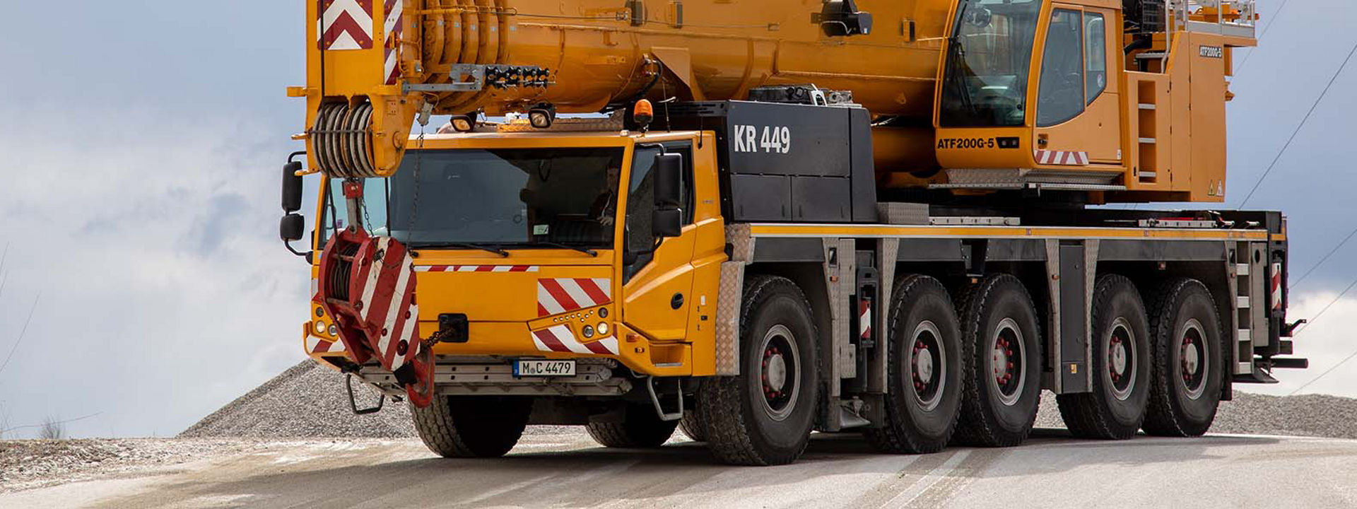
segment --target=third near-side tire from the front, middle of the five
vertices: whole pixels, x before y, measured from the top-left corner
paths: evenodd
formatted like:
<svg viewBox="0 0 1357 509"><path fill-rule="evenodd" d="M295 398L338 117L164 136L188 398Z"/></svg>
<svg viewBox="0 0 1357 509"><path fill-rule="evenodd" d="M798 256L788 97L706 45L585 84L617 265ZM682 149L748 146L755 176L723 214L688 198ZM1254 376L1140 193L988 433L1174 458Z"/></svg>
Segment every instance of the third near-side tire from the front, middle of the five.
<svg viewBox="0 0 1357 509"><path fill-rule="evenodd" d="M1022 444L1041 402L1041 328L1031 296L1016 277L992 274L963 292L959 308L965 395L957 438Z"/></svg>

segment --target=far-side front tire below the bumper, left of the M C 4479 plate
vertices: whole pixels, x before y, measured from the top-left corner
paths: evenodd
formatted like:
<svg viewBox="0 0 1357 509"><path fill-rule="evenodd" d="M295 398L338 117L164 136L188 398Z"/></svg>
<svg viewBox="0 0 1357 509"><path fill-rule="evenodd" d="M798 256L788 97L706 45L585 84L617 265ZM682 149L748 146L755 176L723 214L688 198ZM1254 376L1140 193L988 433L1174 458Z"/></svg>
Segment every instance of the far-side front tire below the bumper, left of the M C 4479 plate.
<svg viewBox="0 0 1357 509"><path fill-rule="evenodd" d="M410 406L425 447L442 457L499 457L528 425L532 399L521 396L434 396Z"/></svg>

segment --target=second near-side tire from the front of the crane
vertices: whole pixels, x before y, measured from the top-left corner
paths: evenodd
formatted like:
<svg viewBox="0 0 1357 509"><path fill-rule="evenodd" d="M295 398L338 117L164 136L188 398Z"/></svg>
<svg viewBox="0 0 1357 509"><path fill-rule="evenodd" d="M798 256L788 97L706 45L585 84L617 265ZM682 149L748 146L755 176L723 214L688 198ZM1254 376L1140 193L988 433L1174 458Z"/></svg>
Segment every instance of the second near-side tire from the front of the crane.
<svg viewBox="0 0 1357 509"><path fill-rule="evenodd" d="M906 276L892 292L889 376L882 428L863 430L878 451L942 451L961 413L961 324L938 280Z"/></svg>

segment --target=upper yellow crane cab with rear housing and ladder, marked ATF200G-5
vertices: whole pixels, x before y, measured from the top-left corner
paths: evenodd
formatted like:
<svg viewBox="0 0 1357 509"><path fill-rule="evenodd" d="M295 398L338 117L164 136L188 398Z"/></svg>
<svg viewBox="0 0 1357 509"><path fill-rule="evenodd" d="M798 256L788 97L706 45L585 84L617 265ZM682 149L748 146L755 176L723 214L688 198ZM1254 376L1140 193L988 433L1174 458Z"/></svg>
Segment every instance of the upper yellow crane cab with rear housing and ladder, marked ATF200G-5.
<svg viewBox="0 0 1357 509"><path fill-rule="evenodd" d="M1254 43L1253 20L1238 10L1251 4L1201 4L1215 7L959 0L934 118L946 182L932 187L1224 200L1220 99L1229 94L1229 49ZM1227 30L1244 22L1242 35ZM1174 124L1191 129L1158 132L1166 115L1190 117Z"/></svg>

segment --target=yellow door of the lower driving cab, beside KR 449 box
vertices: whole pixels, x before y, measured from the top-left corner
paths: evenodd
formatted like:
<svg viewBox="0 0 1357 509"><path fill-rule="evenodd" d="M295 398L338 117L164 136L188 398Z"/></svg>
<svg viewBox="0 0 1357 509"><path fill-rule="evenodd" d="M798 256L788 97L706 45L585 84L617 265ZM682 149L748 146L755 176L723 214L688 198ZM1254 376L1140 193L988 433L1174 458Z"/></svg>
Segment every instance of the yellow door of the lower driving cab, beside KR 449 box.
<svg viewBox="0 0 1357 509"><path fill-rule="evenodd" d="M626 251L635 254L626 263L623 254L623 322L651 341L683 341L688 337L688 309L693 282L692 252L696 243L693 227L692 144L664 143L666 153L683 155L683 235L668 238L654 247L651 213L655 210L654 157L660 147L638 145L631 157L631 172L624 183ZM646 251L654 248L654 252Z"/></svg>

